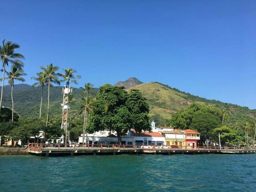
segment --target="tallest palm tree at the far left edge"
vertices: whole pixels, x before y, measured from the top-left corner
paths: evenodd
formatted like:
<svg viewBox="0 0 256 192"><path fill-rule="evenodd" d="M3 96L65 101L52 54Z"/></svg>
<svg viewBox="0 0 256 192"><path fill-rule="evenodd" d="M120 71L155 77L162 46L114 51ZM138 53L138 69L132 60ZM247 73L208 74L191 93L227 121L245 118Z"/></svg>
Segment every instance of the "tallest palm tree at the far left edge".
<svg viewBox="0 0 256 192"><path fill-rule="evenodd" d="M22 54L14 53L15 49L18 49L18 44L13 44L12 41L7 41L5 44L5 39L3 40L3 47L0 46L0 55L1 60L3 62L3 81L1 88L1 99L0 99L0 111L2 108L2 99L3 99L3 91L4 91L4 80L5 80L5 68L8 66L9 62L13 63L18 69L22 68L23 62L19 59L25 59Z"/></svg>

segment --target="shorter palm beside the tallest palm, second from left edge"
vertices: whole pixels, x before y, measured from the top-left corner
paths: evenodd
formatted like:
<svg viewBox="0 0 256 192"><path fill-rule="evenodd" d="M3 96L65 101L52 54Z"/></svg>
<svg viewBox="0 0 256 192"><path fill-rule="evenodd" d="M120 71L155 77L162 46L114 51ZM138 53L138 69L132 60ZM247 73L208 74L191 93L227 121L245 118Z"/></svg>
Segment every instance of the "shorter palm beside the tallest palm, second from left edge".
<svg viewBox="0 0 256 192"><path fill-rule="evenodd" d="M9 81L8 83L11 86L11 98L12 98L12 121L13 121L13 114L14 114L14 102L13 102L13 86L14 86L14 79L18 80L18 81L22 81L24 82L25 79L21 76L25 76L27 75L26 73L24 73L23 69L18 69L16 66L12 65L11 67L11 71L7 72L8 77L6 77L6 79L8 78ZM1 79L2 80L2 79Z"/></svg>

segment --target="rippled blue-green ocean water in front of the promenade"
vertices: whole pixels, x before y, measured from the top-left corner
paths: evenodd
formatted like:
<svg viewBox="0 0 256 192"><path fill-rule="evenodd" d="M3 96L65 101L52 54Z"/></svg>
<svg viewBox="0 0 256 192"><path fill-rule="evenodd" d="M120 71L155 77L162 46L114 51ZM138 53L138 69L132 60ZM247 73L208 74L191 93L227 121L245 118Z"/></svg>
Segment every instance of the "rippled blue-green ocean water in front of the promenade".
<svg viewBox="0 0 256 192"><path fill-rule="evenodd" d="M256 191L256 154L0 156L0 191Z"/></svg>

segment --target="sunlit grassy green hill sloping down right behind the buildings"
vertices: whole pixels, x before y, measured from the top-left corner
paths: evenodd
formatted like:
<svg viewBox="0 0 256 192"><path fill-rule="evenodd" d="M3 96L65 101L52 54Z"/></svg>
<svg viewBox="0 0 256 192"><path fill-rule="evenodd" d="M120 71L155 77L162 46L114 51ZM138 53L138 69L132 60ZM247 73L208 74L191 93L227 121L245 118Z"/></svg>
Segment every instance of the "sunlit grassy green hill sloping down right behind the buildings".
<svg viewBox="0 0 256 192"><path fill-rule="evenodd" d="M189 93L181 92L159 82L143 83L127 89L138 89L147 98L150 105L150 116L158 119L160 124L164 124L179 110L187 108L193 102L210 104L218 108L225 109L230 113L230 122L241 121L256 117L256 110L250 110L236 104L223 103L217 100L209 100Z"/></svg>

